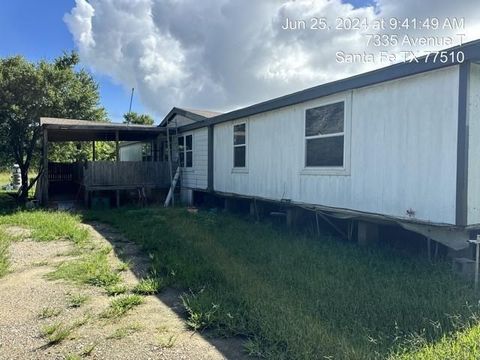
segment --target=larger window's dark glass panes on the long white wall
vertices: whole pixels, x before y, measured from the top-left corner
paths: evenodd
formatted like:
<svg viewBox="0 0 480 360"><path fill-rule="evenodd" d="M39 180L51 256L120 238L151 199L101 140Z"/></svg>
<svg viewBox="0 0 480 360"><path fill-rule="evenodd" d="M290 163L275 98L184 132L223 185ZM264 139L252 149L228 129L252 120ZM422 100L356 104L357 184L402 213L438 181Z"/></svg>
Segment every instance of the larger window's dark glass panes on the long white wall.
<svg viewBox="0 0 480 360"><path fill-rule="evenodd" d="M306 167L343 167L344 127L344 102L306 110Z"/></svg>

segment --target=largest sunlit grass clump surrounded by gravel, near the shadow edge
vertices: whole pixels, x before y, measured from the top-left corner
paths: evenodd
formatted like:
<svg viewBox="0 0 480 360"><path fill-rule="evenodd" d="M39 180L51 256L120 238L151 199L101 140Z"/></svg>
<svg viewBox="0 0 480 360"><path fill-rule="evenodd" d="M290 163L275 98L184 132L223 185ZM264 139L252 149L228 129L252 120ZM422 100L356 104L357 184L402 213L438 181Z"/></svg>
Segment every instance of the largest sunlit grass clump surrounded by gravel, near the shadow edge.
<svg viewBox="0 0 480 360"><path fill-rule="evenodd" d="M108 261L110 249L87 253L77 260L60 264L55 271L48 274L51 280L68 280L79 284L109 287L121 281Z"/></svg>

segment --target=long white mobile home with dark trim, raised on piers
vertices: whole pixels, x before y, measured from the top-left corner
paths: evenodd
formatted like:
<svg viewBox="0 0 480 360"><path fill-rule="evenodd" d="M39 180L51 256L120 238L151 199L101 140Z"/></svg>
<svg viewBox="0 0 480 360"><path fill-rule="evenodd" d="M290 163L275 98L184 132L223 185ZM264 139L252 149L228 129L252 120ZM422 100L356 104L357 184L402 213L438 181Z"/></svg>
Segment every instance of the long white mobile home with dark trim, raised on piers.
<svg viewBox="0 0 480 360"><path fill-rule="evenodd" d="M178 127L184 191L395 222L452 248L480 227L480 42ZM190 139L191 140L187 140Z"/></svg>

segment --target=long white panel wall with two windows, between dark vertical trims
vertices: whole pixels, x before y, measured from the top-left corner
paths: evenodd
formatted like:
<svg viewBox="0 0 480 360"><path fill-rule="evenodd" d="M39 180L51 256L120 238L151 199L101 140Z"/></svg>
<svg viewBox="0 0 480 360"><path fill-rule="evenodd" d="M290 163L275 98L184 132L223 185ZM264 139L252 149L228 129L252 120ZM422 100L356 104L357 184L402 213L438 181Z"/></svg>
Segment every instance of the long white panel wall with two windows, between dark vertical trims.
<svg viewBox="0 0 480 360"><path fill-rule="evenodd" d="M214 189L454 224L458 77L453 66L218 124ZM305 170L305 110L342 99L346 169ZM233 124L245 120L248 170L236 172Z"/></svg>

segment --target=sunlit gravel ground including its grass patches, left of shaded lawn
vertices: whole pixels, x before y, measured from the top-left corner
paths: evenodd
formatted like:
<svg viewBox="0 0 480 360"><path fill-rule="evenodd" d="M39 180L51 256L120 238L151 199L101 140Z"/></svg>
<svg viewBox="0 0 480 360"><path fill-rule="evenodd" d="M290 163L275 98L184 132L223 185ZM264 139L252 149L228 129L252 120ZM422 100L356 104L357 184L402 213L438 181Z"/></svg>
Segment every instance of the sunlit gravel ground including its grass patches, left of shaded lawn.
<svg viewBox="0 0 480 360"><path fill-rule="evenodd" d="M80 220L0 215L0 358L244 357L238 341L213 345L185 327L179 293L157 294L162 283L137 245Z"/></svg>

